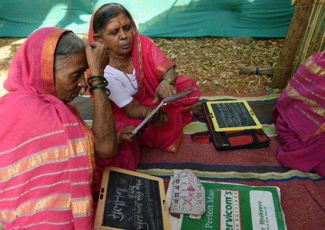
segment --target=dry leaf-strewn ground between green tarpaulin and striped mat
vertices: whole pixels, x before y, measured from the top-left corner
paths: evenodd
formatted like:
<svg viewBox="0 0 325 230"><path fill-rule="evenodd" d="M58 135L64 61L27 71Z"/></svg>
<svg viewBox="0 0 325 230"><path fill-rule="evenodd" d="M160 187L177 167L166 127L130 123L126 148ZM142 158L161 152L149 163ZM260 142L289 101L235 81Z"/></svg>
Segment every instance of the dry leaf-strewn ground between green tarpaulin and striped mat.
<svg viewBox="0 0 325 230"><path fill-rule="evenodd" d="M87 34L78 34L86 39ZM274 67L284 39L250 37L157 38L152 40L177 65L180 75L194 79L202 94L246 94L265 92L272 75L239 73L242 66ZM0 37L0 96L12 58L25 38Z"/></svg>

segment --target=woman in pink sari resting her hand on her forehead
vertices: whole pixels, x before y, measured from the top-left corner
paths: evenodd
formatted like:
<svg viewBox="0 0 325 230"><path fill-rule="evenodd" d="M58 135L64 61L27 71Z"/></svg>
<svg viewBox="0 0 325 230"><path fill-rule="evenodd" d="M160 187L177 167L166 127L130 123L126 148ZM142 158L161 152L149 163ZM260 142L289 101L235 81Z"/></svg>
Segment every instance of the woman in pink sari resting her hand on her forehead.
<svg viewBox="0 0 325 230"><path fill-rule="evenodd" d="M103 78L108 62L102 44L53 27L35 31L18 49L4 83L9 93L0 98L6 229L92 229L103 167L137 168L139 146L129 142L137 140L129 138L134 127L117 124L123 129L116 133ZM95 75L92 129L70 104L87 87L87 68Z"/></svg>

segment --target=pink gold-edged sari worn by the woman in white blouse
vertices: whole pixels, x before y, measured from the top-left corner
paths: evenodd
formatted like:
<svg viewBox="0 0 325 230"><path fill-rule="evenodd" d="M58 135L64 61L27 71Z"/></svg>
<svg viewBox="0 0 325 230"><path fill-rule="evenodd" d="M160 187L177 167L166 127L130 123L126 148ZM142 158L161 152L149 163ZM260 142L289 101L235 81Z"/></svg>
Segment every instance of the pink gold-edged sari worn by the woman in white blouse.
<svg viewBox="0 0 325 230"><path fill-rule="evenodd" d="M101 7L102 6L99 8ZM90 20L88 34L88 40L90 42L94 41L92 21L98 9L93 12ZM155 107L160 103L159 101L157 104L152 104L155 89L159 85L163 74L170 68L175 67L175 64L152 42L151 39L149 39L149 37L139 34L132 18L131 21L135 30L131 55L133 65L135 66L138 85L140 86L134 98L142 105ZM175 152L178 150L183 137L183 127L192 121L193 115L189 106L197 102L201 94L194 80L186 76L178 76L176 87L178 92L182 92L191 87L196 87L198 90L192 91L182 98L188 98L187 100L164 106L164 110L169 113L169 122L162 126L149 126L145 134L139 140L140 145L160 148L168 152ZM123 110L114 103L112 103L112 108L116 122L122 121L133 126L138 126L142 122L142 120L128 117Z"/></svg>

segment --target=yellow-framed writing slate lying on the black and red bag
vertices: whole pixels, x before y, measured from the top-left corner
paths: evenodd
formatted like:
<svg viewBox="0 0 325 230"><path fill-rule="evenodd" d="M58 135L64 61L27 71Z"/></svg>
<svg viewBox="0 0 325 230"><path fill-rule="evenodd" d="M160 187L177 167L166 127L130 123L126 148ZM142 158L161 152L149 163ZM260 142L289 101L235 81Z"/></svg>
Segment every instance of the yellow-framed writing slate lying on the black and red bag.
<svg viewBox="0 0 325 230"><path fill-rule="evenodd" d="M216 132L262 128L246 100L209 101L207 106Z"/></svg>

